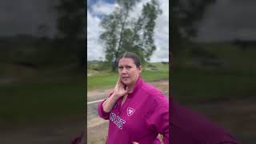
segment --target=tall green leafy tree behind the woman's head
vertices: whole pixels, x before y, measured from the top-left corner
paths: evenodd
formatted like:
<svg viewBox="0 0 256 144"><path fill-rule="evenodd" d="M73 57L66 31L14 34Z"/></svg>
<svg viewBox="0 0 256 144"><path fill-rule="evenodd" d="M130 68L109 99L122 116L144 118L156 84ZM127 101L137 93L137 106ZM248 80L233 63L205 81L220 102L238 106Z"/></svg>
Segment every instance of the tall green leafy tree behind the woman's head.
<svg viewBox="0 0 256 144"><path fill-rule="evenodd" d="M158 3L147 2L138 18L130 18L130 10L139 0L117 0L118 7L114 12L102 18L100 26L104 29L100 35L106 53L106 62L116 69L118 56L125 51L134 52L142 62L150 60L156 50L154 45L154 26L158 14L161 14Z"/></svg>

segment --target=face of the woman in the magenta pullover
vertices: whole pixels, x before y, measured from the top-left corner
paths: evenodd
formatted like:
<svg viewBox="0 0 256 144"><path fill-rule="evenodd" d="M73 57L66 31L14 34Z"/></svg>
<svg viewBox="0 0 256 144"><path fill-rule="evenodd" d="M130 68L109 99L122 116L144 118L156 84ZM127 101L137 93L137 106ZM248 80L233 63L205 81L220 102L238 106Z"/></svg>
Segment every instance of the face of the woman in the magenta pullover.
<svg viewBox="0 0 256 144"><path fill-rule="evenodd" d="M118 62L118 74L126 86L133 86L141 72L142 67L137 67L131 58L121 58Z"/></svg>

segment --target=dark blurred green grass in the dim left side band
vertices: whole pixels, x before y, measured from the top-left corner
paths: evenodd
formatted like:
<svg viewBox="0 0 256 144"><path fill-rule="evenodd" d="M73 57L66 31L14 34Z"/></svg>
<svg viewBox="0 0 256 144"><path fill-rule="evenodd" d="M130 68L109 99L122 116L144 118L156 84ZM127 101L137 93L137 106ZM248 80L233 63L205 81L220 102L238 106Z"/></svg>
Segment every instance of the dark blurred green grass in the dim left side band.
<svg viewBox="0 0 256 144"><path fill-rule="evenodd" d="M0 122L24 124L82 115L86 91L82 80L16 83L1 86Z"/></svg>

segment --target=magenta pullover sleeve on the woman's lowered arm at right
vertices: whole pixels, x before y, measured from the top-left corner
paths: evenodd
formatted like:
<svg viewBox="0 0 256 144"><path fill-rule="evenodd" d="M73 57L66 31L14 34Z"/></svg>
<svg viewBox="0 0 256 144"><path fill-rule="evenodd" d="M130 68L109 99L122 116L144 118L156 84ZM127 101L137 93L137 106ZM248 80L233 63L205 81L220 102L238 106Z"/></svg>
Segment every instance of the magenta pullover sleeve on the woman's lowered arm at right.
<svg viewBox="0 0 256 144"><path fill-rule="evenodd" d="M169 144L169 102L166 96L154 96L151 109L148 111L146 125L150 130L157 130L163 135L164 144Z"/></svg>

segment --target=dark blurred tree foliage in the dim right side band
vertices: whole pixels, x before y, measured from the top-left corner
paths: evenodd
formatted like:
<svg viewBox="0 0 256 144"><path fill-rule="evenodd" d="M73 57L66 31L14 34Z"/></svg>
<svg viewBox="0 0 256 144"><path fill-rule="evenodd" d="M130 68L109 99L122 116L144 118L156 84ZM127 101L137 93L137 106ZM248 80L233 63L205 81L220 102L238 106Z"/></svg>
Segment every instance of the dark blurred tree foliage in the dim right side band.
<svg viewBox="0 0 256 144"><path fill-rule="evenodd" d="M173 0L170 15L171 51L178 53L183 44L197 35L198 22L202 20L207 6L216 0Z"/></svg>

